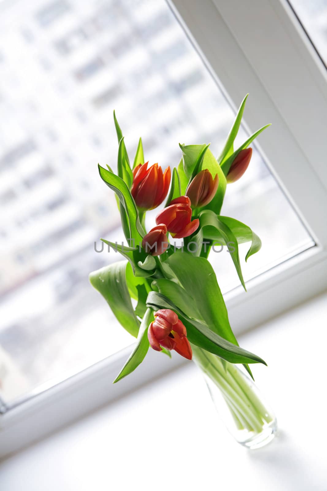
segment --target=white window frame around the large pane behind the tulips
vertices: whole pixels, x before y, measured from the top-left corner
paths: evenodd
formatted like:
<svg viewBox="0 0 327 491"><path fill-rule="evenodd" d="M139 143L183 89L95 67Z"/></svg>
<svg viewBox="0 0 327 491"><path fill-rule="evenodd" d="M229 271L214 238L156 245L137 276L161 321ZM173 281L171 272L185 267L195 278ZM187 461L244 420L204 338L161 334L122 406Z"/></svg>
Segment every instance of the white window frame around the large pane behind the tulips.
<svg viewBox="0 0 327 491"><path fill-rule="evenodd" d="M327 71L285 0L168 3L231 105L236 108L250 92L248 130L263 120L273 123L257 145L316 243L248 281L247 294L237 288L225 296L240 334L327 288ZM129 353L130 347L42 386L0 414L0 458L183 362L150 350L135 372L112 385Z"/></svg>

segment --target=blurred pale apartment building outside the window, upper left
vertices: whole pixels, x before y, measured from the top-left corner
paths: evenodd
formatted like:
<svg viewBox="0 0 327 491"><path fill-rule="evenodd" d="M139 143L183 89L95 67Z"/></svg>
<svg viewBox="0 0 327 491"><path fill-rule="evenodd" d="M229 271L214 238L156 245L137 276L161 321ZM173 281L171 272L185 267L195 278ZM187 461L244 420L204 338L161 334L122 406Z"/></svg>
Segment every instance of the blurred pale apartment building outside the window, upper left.
<svg viewBox="0 0 327 491"><path fill-rule="evenodd" d="M164 2L151 2L145 16L147 4L34 0L3 5L0 292L117 227L113 196L96 170L100 159L115 164L113 107L119 108L127 146L138 136L135 114L151 109L151 126L148 121L137 126L145 149L155 149L156 161L162 157L164 166L177 163L177 127L183 135L191 121L200 141L203 133L213 132L217 140L219 127L225 134L222 114L210 126L221 94L212 84L213 108L203 124L190 106L194 93L208 98L208 76L200 60L194 65L194 53ZM175 74L176 62L182 74ZM163 155L172 148L172 135L175 151Z"/></svg>

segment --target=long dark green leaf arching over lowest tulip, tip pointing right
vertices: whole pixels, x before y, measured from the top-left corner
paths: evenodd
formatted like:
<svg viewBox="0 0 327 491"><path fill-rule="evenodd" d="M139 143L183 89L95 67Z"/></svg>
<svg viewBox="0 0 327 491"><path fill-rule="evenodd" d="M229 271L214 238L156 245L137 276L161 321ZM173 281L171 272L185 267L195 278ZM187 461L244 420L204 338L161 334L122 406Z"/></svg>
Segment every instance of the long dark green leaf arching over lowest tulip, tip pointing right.
<svg viewBox="0 0 327 491"><path fill-rule="evenodd" d="M192 257L189 255L189 257ZM209 329L206 324L190 319L182 312L175 303L169 298L157 292L150 292L147 299L148 307L153 310L160 308L169 308L176 312L181 322L187 330L187 337L190 343L193 343L204 350L218 355L230 363L266 363L257 355L243 350L239 346L230 343L216 332Z"/></svg>

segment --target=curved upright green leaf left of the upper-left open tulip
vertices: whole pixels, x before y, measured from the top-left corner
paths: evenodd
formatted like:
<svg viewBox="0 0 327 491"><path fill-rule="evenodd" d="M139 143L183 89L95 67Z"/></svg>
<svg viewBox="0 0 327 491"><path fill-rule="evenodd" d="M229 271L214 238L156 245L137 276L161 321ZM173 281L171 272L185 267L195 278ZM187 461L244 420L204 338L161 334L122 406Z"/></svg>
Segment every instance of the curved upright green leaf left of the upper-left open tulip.
<svg viewBox="0 0 327 491"><path fill-rule="evenodd" d="M138 246L142 242L145 231L141 225L135 201L126 186L126 183L113 172L101 167L101 165L98 164L98 167L101 179L110 189L115 191L125 208L129 222L130 237L135 240L135 246Z"/></svg>

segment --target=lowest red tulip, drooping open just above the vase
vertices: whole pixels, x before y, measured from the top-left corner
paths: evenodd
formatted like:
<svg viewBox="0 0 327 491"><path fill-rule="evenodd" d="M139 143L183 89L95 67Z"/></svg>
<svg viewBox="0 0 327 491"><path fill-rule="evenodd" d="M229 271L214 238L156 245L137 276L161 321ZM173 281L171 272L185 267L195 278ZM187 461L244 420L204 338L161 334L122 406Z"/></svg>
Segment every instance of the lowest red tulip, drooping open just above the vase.
<svg viewBox="0 0 327 491"><path fill-rule="evenodd" d="M186 327L173 310L160 309L154 312L154 322L151 322L148 329L148 339L153 350L162 351L162 347L175 350L191 360L192 348L186 334Z"/></svg>

